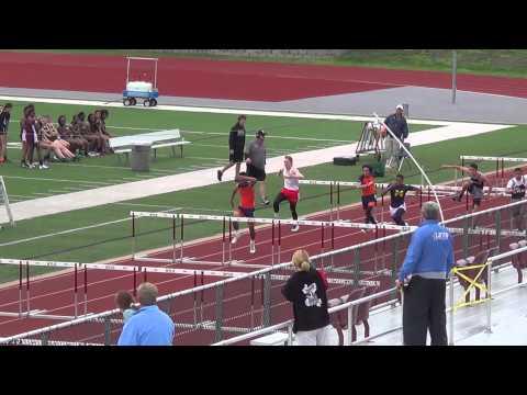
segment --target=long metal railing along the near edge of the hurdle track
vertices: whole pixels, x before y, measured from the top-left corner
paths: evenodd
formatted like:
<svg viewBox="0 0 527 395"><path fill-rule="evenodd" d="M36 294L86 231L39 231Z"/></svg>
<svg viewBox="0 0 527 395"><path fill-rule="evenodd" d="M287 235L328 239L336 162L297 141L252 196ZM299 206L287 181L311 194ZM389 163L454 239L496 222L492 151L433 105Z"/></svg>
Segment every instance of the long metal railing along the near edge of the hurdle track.
<svg viewBox="0 0 527 395"><path fill-rule="evenodd" d="M511 240L516 240L518 237L525 238L525 236L518 236L514 232L505 232L508 227L507 214L511 214L509 211L515 206L523 204L527 204L527 201L515 202L446 221L445 225L449 227L464 229L463 233L455 237L456 248L460 251L459 256L467 257L473 255L474 250L481 248L497 248L500 251L500 248L504 249L503 247L506 246L505 241L507 238ZM493 215L489 217L489 214ZM486 227L489 232L474 235L471 232L474 219L479 221L480 227ZM334 286L330 287L329 292L341 294L343 290L372 286L374 290L380 289L381 291L367 296L366 301L379 302L374 305L378 308L381 305L393 306L395 305L396 293L391 285L402 263L404 250L410 242L408 236L412 232L396 233L360 245L316 255L312 257L312 261L317 267L325 268L329 278L332 275L336 276L333 282ZM381 249L382 244L386 246L379 252L378 249ZM508 256L512 255L509 253ZM505 256L492 257L492 262L496 262L503 257ZM492 269L495 271L500 270L501 267L493 264ZM187 340L190 343L215 343L228 340L229 337L234 337L233 335L254 332L288 321L291 317L290 305L288 302L284 302L279 291L291 274L291 271L292 266L290 262L280 263L250 273L243 273L236 278L165 295L158 298L158 304L175 320L177 336L179 330L180 339L189 336ZM261 284L259 292L261 297L260 307L255 303L258 294L258 292L255 292L255 289L258 286L256 284L257 281ZM238 295L239 291L242 291L240 295ZM251 301L248 301L248 295L250 295ZM393 297L390 295L393 295ZM359 297L358 300L360 301L361 298ZM250 302L250 304L247 302ZM360 302L349 302L349 306L357 306L358 303ZM338 306L334 312L339 312L343 308L346 307ZM260 318L260 316L261 323L257 323L257 318ZM90 327L91 324L99 326ZM121 330L121 327L120 312L113 309L27 334L8 337L0 340L0 343L24 343L24 341L30 340L34 343L35 339L40 339L42 343L77 341L111 345L115 343L115 336ZM60 332L64 331L66 334L68 328L71 329L71 332L67 334L68 336L63 337ZM77 328L77 332L72 334L72 328ZM86 331L87 336L83 336L82 331ZM94 341L94 338L98 341ZM177 339L176 343L184 343L184 341Z"/></svg>

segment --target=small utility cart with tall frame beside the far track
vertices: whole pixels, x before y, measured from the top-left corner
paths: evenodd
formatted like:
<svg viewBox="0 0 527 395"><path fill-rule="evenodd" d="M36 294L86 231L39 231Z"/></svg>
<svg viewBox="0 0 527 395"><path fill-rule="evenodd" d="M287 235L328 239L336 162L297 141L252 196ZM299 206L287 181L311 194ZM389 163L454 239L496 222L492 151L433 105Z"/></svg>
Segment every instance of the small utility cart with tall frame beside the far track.
<svg viewBox="0 0 527 395"><path fill-rule="evenodd" d="M126 89L123 91L123 104L124 105L136 105L138 101L143 101L144 106L156 106L157 98L159 98L159 92L157 90L157 58L144 58L144 57L126 57ZM133 66L137 63L142 64L152 64L152 69L154 70L154 78L143 74L139 76L142 80L132 80L131 81L131 71Z"/></svg>

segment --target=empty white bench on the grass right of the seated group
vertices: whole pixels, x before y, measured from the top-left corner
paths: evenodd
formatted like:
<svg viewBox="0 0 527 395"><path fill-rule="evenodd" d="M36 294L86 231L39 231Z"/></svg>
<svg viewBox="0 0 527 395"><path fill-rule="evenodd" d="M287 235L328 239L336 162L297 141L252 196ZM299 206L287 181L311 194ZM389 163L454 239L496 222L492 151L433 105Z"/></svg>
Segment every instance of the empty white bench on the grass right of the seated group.
<svg viewBox="0 0 527 395"><path fill-rule="evenodd" d="M179 129L171 131L160 131L153 133L144 133L134 136L123 136L110 138L110 147L113 149L114 154L124 154L126 159L128 159L128 154L132 153L132 147L137 144L149 144L154 151L154 158L157 157L157 149L171 147L172 155L176 156L176 147L179 146L181 149L181 158L183 157L183 146L191 144L187 142Z"/></svg>

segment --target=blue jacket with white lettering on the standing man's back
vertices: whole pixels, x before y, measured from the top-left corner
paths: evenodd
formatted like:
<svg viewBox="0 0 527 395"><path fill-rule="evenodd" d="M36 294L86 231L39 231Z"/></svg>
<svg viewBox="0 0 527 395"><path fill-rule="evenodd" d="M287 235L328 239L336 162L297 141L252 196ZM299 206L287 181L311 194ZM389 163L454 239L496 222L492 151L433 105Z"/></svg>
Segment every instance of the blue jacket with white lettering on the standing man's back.
<svg viewBox="0 0 527 395"><path fill-rule="evenodd" d="M425 278L447 278L453 266L452 236L437 221L426 219L415 230L406 258L399 273L403 281L410 274Z"/></svg>

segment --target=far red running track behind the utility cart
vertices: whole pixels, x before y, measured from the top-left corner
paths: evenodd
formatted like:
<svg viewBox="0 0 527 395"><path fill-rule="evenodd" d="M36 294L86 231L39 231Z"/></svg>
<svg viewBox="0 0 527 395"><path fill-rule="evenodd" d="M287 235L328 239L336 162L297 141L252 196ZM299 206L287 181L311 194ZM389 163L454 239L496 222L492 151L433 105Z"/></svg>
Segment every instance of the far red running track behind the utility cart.
<svg viewBox="0 0 527 395"><path fill-rule="evenodd" d="M121 93L125 79L120 56L0 53L0 87ZM159 61L158 81L161 95L256 101L451 87L450 74L439 71L169 57ZM457 83L463 91L527 98L527 79L460 74Z"/></svg>

